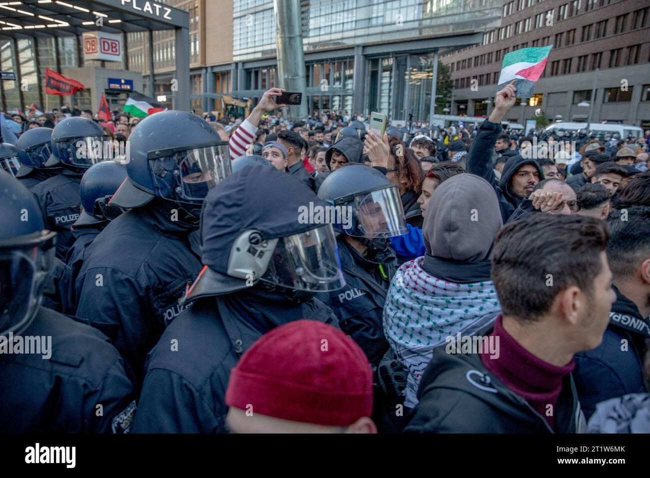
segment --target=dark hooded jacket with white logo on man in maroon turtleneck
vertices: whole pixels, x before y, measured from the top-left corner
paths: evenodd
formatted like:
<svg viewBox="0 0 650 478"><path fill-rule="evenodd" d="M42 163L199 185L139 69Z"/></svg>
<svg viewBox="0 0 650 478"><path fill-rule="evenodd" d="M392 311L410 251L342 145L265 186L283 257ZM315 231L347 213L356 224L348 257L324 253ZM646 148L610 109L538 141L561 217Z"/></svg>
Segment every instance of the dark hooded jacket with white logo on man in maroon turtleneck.
<svg viewBox="0 0 650 478"><path fill-rule="evenodd" d="M493 325L478 330L487 336ZM434 349L417 392L419 403L406 433L580 433L586 421L571 375L562 383L556 405L556 427L528 402L491 375L479 354L447 353L449 345Z"/></svg>

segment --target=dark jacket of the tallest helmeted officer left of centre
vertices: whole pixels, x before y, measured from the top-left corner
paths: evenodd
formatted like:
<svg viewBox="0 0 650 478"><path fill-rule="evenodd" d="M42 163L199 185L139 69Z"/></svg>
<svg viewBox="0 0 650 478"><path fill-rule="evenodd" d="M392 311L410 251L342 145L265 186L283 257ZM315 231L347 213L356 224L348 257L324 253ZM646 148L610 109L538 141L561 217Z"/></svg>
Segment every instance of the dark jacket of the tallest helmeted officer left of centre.
<svg viewBox="0 0 650 478"><path fill-rule="evenodd" d="M189 231L170 221L172 207L154 199L109 222L85 249L74 283L77 317L109 336L137 378L201 271Z"/></svg>

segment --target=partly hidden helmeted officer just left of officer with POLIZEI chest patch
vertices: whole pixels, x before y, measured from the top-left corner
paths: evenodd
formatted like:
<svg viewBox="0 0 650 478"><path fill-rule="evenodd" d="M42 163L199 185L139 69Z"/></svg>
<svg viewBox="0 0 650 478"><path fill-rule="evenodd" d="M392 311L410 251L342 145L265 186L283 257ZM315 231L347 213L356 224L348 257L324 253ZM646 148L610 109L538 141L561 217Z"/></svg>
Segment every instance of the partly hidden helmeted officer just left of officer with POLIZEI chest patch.
<svg viewBox="0 0 650 478"><path fill-rule="evenodd" d="M28 129L16 142L18 161L20 161L16 178L20 179L27 189L61 172L58 166L45 167L45 163L52 156L52 131L52 128L46 127Z"/></svg>

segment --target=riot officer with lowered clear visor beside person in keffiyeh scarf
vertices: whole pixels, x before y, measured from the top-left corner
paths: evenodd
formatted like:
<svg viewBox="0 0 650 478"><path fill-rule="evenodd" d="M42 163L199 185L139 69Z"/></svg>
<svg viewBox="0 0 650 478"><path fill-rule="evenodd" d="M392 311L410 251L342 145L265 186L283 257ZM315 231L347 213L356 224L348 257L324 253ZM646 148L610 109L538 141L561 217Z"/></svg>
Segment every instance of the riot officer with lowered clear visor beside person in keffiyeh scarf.
<svg viewBox="0 0 650 478"><path fill-rule="evenodd" d="M378 170L348 163L323 181L318 198L333 206L337 221L341 218L334 230L346 283L322 300L370 364L378 365L389 349L383 336L383 302L397 267L388 238L406 233L399 191Z"/></svg>

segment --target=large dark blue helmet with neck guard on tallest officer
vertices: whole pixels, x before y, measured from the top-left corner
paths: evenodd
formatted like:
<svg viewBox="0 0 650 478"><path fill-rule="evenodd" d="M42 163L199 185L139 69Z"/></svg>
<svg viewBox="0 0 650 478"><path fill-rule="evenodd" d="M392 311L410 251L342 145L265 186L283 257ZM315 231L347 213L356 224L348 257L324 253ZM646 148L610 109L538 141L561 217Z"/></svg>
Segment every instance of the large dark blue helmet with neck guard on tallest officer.
<svg viewBox="0 0 650 478"><path fill-rule="evenodd" d="M138 122L127 144L128 178L110 204L131 209L158 196L196 219L207 192L230 175L228 142L187 111L161 111Z"/></svg>

